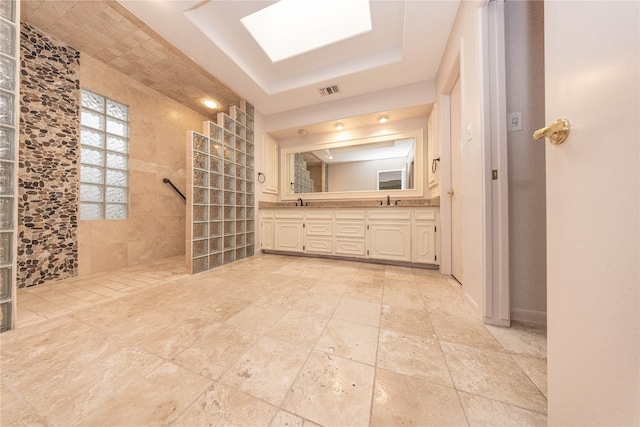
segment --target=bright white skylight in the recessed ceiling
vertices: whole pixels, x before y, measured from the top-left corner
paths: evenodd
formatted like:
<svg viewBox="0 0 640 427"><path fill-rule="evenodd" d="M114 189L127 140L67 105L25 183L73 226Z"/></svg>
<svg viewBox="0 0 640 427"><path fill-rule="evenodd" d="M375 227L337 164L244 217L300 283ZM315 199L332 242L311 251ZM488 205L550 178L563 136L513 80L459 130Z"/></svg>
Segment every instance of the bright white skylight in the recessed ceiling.
<svg viewBox="0 0 640 427"><path fill-rule="evenodd" d="M372 29L369 0L280 0L240 22L272 62Z"/></svg>

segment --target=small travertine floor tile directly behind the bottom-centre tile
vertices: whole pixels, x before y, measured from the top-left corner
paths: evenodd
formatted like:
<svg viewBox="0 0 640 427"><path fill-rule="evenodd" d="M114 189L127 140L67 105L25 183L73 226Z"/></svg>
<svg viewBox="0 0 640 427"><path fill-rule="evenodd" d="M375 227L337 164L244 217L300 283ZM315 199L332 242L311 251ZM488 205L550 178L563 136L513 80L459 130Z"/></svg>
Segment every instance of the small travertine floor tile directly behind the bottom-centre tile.
<svg viewBox="0 0 640 427"><path fill-rule="evenodd" d="M331 319L316 349L345 359L374 365L378 349L378 328Z"/></svg>

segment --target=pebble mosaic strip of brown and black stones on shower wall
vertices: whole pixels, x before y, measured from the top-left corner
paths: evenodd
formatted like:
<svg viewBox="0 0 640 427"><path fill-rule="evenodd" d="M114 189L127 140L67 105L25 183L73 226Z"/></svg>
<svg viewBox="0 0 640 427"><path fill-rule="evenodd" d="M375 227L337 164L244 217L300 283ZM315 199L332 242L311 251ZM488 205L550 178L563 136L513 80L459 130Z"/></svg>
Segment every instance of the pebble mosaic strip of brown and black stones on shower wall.
<svg viewBox="0 0 640 427"><path fill-rule="evenodd" d="M22 24L18 287L77 275L80 52Z"/></svg>

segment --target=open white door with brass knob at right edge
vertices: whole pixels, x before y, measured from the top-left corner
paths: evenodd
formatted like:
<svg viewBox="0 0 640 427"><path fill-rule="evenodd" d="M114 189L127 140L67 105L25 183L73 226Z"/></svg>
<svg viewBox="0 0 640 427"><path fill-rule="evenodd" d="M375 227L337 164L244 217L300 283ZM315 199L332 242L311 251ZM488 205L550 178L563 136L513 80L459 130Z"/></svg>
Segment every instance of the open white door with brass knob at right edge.
<svg viewBox="0 0 640 427"><path fill-rule="evenodd" d="M640 3L544 7L549 425L637 426Z"/></svg>

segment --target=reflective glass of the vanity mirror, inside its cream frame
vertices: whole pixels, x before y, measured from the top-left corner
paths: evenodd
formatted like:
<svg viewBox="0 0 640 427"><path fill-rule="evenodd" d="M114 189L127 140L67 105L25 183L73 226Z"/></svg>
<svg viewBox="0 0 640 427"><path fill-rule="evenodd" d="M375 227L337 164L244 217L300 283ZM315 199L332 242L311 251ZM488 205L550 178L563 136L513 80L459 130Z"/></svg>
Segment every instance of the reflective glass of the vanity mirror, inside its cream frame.
<svg viewBox="0 0 640 427"><path fill-rule="evenodd" d="M290 156L294 193L413 188L414 138L318 148Z"/></svg>

